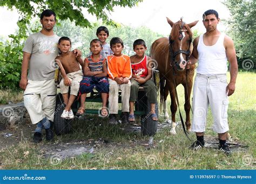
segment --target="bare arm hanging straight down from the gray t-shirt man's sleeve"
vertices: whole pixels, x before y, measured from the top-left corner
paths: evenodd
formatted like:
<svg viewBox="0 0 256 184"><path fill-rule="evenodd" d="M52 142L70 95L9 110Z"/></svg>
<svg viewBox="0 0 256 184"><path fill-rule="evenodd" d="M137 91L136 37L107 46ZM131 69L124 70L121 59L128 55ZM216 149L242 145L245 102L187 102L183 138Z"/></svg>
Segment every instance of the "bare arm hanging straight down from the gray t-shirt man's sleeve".
<svg viewBox="0 0 256 184"><path fill-rule="evenodd" d="M19 87L22 89L26 89L26 85L28 84L28 69L29 69L29 60L31 54L28 52L23 52L23 60L22 60L22 73L21 80L19 81Z"/></svg>

